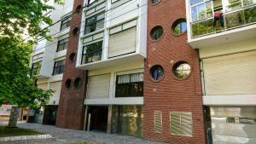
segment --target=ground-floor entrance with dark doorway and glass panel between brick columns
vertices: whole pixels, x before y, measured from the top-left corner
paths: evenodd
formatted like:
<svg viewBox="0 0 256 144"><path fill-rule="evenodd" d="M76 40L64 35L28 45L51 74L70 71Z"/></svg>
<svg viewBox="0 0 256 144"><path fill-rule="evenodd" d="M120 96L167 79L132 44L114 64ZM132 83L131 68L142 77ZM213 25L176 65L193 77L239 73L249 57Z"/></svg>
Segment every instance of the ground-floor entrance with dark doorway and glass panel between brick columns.
<svg viewBox="0 0 256 144"><path fill-rule="evenodd" d="M143 137L143 106L87 106L85 130Z"/></svg>

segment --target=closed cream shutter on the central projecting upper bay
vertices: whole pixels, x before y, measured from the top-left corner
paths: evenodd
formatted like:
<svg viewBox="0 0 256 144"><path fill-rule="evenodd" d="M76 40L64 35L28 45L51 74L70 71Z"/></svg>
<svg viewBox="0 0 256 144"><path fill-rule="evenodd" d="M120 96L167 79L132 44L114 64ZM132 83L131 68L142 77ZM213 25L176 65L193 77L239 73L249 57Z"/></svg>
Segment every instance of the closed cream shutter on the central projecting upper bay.
<svg viewBox="0 0 256 144"><path fill-rule="evenodd" d="M137 27L114 33L109 37L108 58L125 55L136 50Z"/></svg>

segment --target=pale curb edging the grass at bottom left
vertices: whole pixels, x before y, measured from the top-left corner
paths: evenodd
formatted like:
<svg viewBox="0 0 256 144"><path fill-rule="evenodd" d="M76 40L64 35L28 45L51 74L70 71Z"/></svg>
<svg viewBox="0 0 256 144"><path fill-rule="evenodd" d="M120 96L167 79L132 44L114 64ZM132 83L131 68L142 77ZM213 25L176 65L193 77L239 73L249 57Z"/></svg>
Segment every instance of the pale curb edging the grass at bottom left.
<svg viewBox="0 0 256 144"><path fill-rule="evenodd" d="M23 136L9 136L0 137L0 141L18 141L18 140L38 140L53 138L51 135L23 135Z"/></svg>

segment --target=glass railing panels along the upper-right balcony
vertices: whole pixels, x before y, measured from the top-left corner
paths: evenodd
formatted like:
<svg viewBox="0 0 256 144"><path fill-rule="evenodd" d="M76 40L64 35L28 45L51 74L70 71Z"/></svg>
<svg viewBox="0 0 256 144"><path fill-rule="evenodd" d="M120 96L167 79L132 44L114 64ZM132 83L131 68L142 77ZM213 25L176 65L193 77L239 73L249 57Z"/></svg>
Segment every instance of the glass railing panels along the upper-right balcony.
<svg viewBox="0 0 256 144"><path fill-rule="evenodd" d="M253 25L256 23L256 5L249 8L236 9L223 14L223 26L221 20L214 26L214 18L191 22L192 38L202 37L217 32L226 32L234 28Z"/></svg>

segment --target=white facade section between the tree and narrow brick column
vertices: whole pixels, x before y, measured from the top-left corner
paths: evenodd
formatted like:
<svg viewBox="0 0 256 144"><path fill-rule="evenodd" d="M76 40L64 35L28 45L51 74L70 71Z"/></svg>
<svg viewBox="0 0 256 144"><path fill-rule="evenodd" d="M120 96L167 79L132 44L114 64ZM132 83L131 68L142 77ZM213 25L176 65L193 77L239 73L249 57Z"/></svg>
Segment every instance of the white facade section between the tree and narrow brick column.
<svg viewBox="0 0 256 144"><path fill-rule="evenodd" d="M35 112L32 122L55 124L73 10L73 0L65 0L64 3L64 5L59 5L53 0L46 3L55 7L44 14L53 20L54 25L49 26L48 33L52 41L38 38L38 43L32 52L32 76L37 78L38 88L55 91L49 99L48 106ZM42 27L46 26L42 25Z"/></svg>

